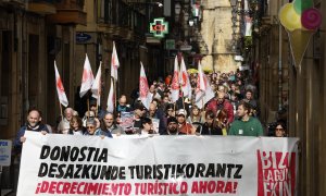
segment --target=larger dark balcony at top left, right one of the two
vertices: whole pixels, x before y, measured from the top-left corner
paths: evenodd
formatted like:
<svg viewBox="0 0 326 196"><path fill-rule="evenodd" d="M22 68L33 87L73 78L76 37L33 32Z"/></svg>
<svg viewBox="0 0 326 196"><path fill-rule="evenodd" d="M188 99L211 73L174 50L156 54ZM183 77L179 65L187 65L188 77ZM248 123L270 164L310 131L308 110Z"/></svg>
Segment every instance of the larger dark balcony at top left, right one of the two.
<svg viewBox="0 0 326 196"><path fill-rule="evenodd" d="M57 24L80 24L86 25L86 13L84 0L61 0L55 4L57 13L47 16L47 20Z"/></svg>

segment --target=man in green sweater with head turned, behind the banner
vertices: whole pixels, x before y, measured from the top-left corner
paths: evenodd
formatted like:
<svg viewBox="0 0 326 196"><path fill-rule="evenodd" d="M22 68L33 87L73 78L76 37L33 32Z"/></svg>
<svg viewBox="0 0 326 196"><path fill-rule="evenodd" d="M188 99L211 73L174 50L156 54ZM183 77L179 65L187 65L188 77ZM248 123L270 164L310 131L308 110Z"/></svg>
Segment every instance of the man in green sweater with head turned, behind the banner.
<svg viewBox="0 0 326 196"><path fill-rule="evenodd" d="M250 117L251 107L248 102L240 102L238 106L237 114L240 118L231 123L229 128L229 135L238 136L263 136L264 131L261 122Z"/></svg>

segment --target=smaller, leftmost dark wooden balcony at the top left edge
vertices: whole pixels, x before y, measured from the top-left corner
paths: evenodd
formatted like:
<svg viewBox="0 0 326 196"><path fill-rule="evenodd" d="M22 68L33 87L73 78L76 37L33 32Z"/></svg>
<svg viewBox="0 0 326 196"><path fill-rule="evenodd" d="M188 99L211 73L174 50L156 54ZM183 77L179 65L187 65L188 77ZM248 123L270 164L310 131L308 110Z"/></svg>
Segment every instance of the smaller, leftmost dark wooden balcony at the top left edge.
<svg viewBox="0 0 326 196"><path fill-rule="evenodd" d="M26 10L41 15L55 13L54 0L29 0Z"/></svg>

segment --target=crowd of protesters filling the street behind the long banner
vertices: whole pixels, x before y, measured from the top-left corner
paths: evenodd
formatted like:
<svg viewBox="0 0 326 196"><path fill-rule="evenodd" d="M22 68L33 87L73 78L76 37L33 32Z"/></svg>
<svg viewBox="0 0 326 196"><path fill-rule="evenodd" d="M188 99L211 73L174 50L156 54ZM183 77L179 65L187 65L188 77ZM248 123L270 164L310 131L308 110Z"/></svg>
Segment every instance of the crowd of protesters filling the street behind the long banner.
<svg viewBox="0 0 326 196"><path fill-rule="evenodd" d="M138 89L133 90L130 100L122 95L115 106L115 112L100 110L95 100L85 114L78 114L73 108L66 108L54 127L41 123L41 112L28 111L27 121L17 133L14 146L21 150L25 142L25 131L42 134L71 134L113 137L120 135L241 135L264 136L265 131L259 121L256 87L243 72L206 74L215 97L199 109L193 99L184 98L171 102L172 76L159 78L150 84L152 102L145 108L138 98ZM197 74L189 73L191 87L197 87ZM131 113L131 125L125 127L125 113ZM83 118L82 118L83 117ZM285 136L284 123L277 124L275 136Z"/></svg>

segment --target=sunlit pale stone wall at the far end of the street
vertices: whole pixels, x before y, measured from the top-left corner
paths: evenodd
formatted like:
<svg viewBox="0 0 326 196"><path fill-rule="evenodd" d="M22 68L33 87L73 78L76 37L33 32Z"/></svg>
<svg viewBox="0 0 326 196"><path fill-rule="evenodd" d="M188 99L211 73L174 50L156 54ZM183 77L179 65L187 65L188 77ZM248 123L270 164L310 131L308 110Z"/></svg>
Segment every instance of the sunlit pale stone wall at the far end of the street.
<svg viewBox="0 0 326 196"><path fill-rule="evenodd" d="M201 34L208 45L208 53L202 59L205 70L229 72L240 65L231 53L231 7L229 0L202 1Z"/></svg>

